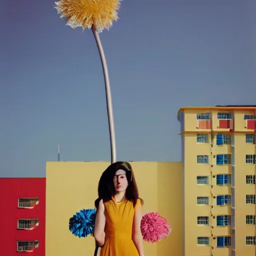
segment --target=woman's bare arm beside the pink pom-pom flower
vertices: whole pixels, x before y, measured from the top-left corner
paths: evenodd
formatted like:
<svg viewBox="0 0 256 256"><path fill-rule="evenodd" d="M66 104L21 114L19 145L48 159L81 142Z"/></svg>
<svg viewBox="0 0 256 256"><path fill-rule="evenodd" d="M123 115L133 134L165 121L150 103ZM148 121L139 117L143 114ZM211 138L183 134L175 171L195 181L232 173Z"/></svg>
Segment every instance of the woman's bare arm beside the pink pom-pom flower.
<svg viewBox="0 0 256 256"><path fill-rule="evenodd" d="M139 256L144 256L143 238L140 230L141 218L142 218L142 205L140 200L138 199L137 204L135 206L135 213L133 217L132 240L137 248Z"/></svg>

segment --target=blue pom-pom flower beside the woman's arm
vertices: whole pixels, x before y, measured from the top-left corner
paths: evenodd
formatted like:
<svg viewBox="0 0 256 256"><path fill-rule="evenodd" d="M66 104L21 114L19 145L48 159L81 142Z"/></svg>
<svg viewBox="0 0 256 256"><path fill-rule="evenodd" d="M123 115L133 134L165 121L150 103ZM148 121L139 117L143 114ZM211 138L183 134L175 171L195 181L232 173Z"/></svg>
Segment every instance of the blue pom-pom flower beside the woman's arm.
<svg viewBox="0 0 256 256"><path fill-rule="evenodd" d="M70 232L81 237L87 237L93 233L95 225L95 209L81 209L69 218L69 230Z"/></svg>

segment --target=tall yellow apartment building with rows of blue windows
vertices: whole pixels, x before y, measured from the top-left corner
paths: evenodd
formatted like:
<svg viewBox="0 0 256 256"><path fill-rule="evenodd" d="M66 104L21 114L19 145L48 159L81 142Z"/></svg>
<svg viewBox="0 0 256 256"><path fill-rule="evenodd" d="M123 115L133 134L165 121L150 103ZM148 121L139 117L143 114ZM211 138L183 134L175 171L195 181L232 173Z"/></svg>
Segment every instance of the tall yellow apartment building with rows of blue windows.
<svg viewBox="0 0 256 256"><path fill-rule="evenodd" d="M255 256L256 106L182 107L183 255Z"/></svg>

